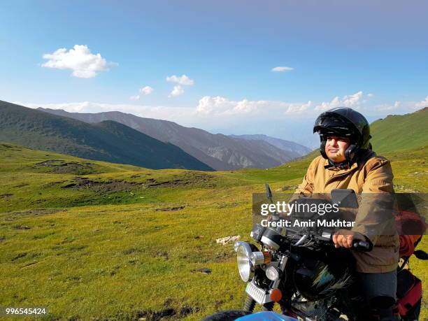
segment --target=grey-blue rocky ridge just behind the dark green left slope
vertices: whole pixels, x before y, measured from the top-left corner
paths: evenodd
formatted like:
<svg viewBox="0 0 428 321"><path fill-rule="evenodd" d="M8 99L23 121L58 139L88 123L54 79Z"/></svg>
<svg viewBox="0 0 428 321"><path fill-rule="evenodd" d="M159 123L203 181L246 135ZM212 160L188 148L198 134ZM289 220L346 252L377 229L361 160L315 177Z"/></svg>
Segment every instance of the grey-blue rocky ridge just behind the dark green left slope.
<svg viewBox="0 0 428 321"><path fill-rule="evenodd" d="M175 122L143 118L127 113L68 113L65 110L38 108L47 113L71 117L83 122L114 120L142 133L173 143L213 169L229 170L246 167L269 168L301 156L300 152L280 149L266 141L248 140L222 134L211 134L197 128L180 126ZM300 150L300 149L299 149Z"/></svg>

